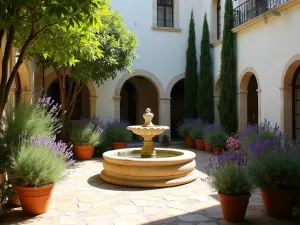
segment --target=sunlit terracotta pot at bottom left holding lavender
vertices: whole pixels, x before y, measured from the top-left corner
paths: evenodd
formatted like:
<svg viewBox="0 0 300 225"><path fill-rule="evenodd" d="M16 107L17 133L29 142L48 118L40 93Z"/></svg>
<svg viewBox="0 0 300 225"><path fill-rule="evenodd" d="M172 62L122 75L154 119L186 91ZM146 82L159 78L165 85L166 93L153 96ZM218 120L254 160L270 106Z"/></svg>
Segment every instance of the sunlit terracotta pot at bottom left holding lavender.
<svg viewBox="0 0 300 225"><path fill-rule="evenodd" d="M53 187L54 183L37 188L16 186L22 210L33 215L47 212Z"/></svg>

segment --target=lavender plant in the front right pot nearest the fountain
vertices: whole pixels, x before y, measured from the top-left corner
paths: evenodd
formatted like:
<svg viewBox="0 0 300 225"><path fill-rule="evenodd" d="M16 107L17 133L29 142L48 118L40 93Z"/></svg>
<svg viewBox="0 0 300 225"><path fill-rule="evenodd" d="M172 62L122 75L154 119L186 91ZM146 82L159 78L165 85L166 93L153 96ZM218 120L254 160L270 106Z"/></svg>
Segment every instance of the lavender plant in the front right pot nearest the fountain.
<svg viewBox="0 0 300 225"><path fill-rule="evenodd" d="M205 170L207 177L202 181L224 195L246 195L255 188L243 151L223 152L220 156L210 159Z"/></svg>

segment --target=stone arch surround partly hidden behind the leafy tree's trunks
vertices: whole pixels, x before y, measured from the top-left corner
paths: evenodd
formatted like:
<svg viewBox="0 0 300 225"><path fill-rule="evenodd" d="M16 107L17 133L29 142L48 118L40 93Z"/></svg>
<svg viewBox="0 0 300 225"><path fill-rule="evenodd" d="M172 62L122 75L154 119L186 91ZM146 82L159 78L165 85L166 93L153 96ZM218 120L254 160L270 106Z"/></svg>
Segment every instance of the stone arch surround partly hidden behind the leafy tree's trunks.
<svg viewBox="0 0 300 225"><path fill-rule="evenodd" d="M48 70L49 71L49 70ZM46 70L47 72L47 70ZM46 73L45 72L45 73ZM45 91L44 93L48 92L48 89L50 87L50 85L57 79L56 77L56 73L54 70L50 71L48 74L45 75L45 81L44 81L44 85L45 85ZM88 90L89 90L89 99L90 99L90 116L92 117L93 115L96 115L96 101L97 101L97 94L96 94L96 88L95 85L93 84L93 82L89 81L86 84Z"/></svg>

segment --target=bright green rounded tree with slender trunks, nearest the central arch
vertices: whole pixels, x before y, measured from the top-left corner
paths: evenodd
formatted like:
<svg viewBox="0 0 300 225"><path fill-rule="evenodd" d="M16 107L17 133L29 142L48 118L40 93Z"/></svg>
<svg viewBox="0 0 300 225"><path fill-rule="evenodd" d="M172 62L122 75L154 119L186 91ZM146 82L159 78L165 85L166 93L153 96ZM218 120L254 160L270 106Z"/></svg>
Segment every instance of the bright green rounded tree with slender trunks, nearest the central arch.
<svg viewBox="0 0 300 225"><path fill-rule="evenodd" d="M118 12L108 8L100 15L99 22L100 30L88 29L82 31L84 34L78 32L77 25L70 29L58 27L51 31L52 35L45 33L49 36L47 42L51 48L43 51L37 41L29 51L29 55L36 56L46 67L55 70L63 113L62 139L66 139L68 120L84 85L94 82L99 86L109 78L116 78L119 72L130 72L136 58L136 37ZM88 40L86 34L89 34ZM64 54L70 56L71 63L61 58Z"/></svg>

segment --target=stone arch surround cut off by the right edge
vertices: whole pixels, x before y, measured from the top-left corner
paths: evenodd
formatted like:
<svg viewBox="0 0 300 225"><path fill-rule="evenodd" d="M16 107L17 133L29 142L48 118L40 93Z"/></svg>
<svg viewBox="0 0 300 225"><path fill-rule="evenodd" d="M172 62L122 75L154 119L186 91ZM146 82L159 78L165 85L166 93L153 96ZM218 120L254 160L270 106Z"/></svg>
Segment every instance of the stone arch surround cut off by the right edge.
<svg viewBox="0 0 300 225"><path fill-rule="evenodd" d="M280 127L290 136L293 135L293 78L300 67L300 54L291 57L285 64L281 77L280 98Z"/></svg>

